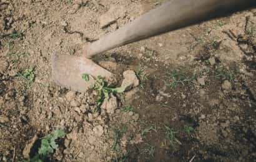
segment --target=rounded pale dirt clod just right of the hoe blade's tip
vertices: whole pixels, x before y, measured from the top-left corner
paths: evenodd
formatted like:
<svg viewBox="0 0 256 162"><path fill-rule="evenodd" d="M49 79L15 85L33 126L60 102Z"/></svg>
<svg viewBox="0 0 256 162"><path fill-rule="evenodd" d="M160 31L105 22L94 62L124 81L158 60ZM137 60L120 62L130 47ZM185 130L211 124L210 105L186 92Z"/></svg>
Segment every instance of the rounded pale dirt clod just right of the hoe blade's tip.
<svg viewBox="0 0 256 162"><path fill-rule="evenodd" d="M126 70L123 74L124 80L122 80L122 87L127 87L126 90L130 90L132 87L137 87L139 85L139 79L134 71Z"/></svg>

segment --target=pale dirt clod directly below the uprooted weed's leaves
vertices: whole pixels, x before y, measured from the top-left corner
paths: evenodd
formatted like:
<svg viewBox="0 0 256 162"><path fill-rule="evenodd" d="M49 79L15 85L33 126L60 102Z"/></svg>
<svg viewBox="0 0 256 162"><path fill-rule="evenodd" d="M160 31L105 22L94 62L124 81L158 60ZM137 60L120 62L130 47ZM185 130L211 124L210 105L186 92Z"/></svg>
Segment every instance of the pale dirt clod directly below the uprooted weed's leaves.
<svg viewBox="0 0 256 162"><path fill-rule="evenodd" d="M105 98L101 108L107 110L107 113L113 114L117 109L117 98L114 95L111 95L109 99Z"/></svg>

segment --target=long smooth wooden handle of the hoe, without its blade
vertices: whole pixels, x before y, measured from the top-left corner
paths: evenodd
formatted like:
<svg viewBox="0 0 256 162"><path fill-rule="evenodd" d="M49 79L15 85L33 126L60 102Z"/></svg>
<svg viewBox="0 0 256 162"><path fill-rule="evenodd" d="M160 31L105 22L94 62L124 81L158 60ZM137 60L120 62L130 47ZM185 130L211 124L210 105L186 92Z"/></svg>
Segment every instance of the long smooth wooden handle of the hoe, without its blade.
<svg viewBox="0 0 256 162"><path fill-rule="evenodd" d="M86 57L256 6L256 0L170 0L87 46Z"/></svg>

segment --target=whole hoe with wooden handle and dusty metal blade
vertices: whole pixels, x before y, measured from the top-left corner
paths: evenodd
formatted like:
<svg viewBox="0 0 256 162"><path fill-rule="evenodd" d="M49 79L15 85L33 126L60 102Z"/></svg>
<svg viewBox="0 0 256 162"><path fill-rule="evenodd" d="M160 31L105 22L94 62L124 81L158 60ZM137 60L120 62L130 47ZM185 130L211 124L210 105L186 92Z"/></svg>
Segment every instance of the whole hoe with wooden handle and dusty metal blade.
<svg viewBox="0 0 256 162"><path fill-rule="evenodd" d="M92 56L121 45L255 6L256 0L170 0L98 41L84 45L82 57L53 54L52 77L61 86L86 92L94 83L94 78L99 75L106 80L114 79L114 74L90 59ZM82 74L93 77L90 76L85 82Z"/></svg>

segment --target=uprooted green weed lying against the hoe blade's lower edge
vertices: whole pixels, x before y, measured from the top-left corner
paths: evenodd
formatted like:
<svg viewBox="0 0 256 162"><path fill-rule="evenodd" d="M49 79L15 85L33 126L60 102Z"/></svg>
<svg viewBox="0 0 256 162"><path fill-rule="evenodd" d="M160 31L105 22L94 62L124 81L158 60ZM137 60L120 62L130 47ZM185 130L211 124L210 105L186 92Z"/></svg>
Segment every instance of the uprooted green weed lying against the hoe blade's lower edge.
<svg viewBox="0 0 256 162"><path fill-rule="evenodd" d="M83 74L82 79L86 80L86 82L89 81L89 75L88 74ZM102 103L104 102L105 98L109 99L109 96L111 94L124 93L124 91L127 88L127 86L113 88L101 76L98 76L98 77L94 78L94 80L95 80L95 83L91 85L91 88L93 90L97 90L98 95L99 95L98 99L96 100L96 105L97 105L98 110L101 107Z"/></svg>

